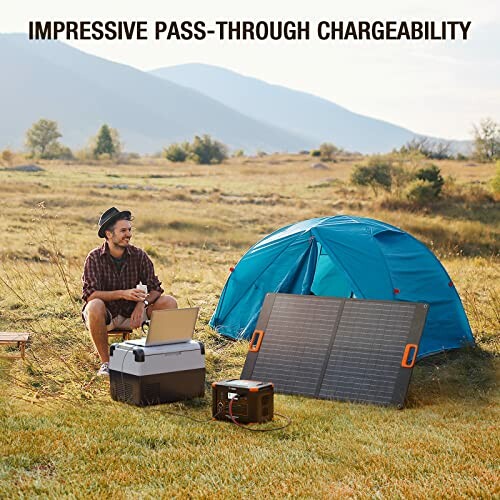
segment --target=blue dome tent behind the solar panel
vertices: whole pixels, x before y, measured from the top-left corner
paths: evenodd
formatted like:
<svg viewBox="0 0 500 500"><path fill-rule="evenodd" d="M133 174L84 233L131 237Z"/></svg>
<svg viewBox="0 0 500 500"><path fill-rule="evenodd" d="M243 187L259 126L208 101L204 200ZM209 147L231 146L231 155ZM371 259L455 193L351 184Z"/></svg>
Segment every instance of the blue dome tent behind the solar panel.
<svg viewBox="0 0 500 500"><path fill-rule="evenodd" d="M210 325L227 337L250 338L269 292L425 302L418 358L474 344L460 297L436 256L377 220L324 217L266 236L229 276Z"/></svg>

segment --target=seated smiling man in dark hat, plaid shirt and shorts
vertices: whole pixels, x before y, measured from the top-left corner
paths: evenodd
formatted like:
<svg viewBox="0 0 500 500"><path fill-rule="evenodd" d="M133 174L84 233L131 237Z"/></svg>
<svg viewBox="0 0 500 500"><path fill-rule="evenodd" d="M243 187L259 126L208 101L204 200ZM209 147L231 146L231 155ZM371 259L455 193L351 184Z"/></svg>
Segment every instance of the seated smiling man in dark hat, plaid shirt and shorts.
<svg viewBox="0 0 500 500"><path fill-rule="evenodd" d="M102 246L92 250L83 269L83 320L102 361L98 375L109 376L108 331L138 328L157 309L175 309L162 295L161 282L144 250L130 244L132 214L112 207L99 219ZM148 293L137 285L146 285Z"/></svg>

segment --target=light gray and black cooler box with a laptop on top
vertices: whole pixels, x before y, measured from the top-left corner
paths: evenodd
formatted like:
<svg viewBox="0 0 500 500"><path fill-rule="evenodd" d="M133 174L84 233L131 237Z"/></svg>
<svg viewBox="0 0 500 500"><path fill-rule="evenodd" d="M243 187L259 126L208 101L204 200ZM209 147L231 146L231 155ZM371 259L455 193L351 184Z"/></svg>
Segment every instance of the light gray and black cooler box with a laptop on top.
<svg viewBox="0 0 500 500"><path fill-rule="evenodd" d="M177 344L110 346L111 397L139 406L203 397L205 347L191 340Z"/></svg>

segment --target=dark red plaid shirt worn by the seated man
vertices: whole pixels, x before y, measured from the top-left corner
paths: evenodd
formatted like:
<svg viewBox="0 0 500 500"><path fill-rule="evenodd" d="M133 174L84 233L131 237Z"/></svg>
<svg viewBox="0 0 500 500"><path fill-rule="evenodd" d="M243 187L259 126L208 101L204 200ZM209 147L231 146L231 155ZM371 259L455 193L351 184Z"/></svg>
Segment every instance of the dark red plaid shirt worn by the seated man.
<svg viewBox="0 0 500 500"><path fill-rule="evenodd" d="M129 245L125 248L123 256L125 262L118 272L107 242L87 255L82 276L82 299L85 303L95 291L128 290L135 288L140 281L148 285L148 291L157 290L163 293L161 281L155 275L153 263L144 250ZM113 318L119 314L130 318L135 305L136 302L131 300L106 302L106 307Z"/></svg>

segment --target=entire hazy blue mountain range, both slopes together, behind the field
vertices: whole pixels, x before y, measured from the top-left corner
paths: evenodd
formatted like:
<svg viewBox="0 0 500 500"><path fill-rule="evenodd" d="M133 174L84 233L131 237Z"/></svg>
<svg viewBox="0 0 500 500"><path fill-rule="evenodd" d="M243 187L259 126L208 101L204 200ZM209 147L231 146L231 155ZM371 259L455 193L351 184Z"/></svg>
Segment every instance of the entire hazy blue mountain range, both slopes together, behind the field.
<svg viewBox="0 0 500 500"><path fill-rule="evenodd" d="M377 153L424 137L322 97L206 64L143 72L59 41L0 33L0 65L7 75L0 80L0 147L22 147L26 130L40 118L56 120L61 142L71 148L85 146L107 123L127 151L138 153L203 134L247 153L296 152L322 142Z"/></svg>

